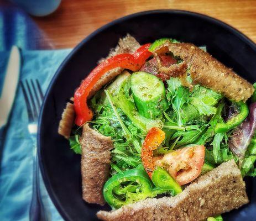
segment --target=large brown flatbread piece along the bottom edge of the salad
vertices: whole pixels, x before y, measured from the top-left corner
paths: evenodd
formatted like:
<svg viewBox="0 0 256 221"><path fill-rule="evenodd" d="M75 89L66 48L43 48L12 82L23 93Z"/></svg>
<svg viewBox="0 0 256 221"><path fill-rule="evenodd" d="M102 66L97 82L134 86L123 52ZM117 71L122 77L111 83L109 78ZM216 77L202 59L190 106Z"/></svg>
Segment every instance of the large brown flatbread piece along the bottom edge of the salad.
<svg viewBox="0 0 256 221"><path fill-rule="evenodd" d="M116 211L97 213L106 221L205 220L248 203L245 183L234 160L201 176L175 197L145 199Z"/></svg>

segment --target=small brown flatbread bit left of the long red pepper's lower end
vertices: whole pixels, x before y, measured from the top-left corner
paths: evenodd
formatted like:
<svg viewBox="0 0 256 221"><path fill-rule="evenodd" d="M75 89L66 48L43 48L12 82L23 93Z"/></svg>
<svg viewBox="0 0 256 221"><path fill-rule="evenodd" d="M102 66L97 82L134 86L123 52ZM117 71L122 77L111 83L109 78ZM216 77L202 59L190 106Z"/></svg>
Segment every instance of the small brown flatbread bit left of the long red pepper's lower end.
<svg viewBox="0 0 256 221"><path fill-rule="evenodd" d="M58 133L64 136L66 139L69 139L74 120L75 120L74 104L67 102L66 108L64 109L61 115Z"/></svg>

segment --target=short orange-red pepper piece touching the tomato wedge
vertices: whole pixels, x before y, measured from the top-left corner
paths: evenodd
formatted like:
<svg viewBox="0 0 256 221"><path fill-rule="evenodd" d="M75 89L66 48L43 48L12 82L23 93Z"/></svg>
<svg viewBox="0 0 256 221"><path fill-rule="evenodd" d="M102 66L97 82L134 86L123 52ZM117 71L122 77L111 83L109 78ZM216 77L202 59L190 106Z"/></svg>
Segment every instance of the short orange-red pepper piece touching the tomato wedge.
<svg viewBox="0 0 256 221"><path fill-rule="evenodd" d="M165 133L163 130L159 128L151 128L142 145L142 164L150 178L154 170L153 150L156 150L164 139Z"/></svg>

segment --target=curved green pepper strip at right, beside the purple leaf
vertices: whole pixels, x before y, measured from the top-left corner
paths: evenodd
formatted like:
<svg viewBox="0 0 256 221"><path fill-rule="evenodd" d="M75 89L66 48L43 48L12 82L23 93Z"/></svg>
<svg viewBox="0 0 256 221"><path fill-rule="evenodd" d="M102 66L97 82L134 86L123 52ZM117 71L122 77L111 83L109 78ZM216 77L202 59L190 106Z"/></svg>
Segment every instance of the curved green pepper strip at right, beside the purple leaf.
<svg viewBox="0 0 256 221"><path fill-rule="evenodd" d="M249 108L246 103L243 103L242 101L234 103L238 106L239 113L231 118L228 119L226 123L217 123L215 126L215 132L216 133L226 133L227 131L234 129L239 124L241 124L245 118L247 118L249 114Z"/></svg>

